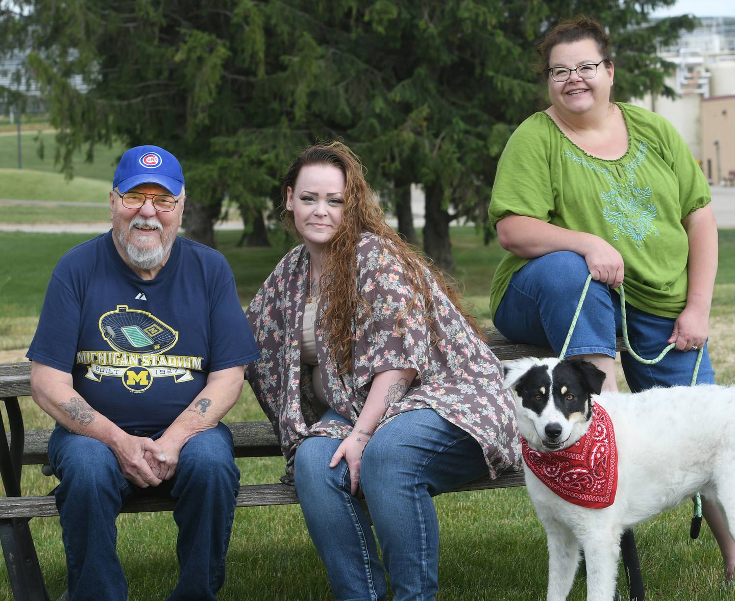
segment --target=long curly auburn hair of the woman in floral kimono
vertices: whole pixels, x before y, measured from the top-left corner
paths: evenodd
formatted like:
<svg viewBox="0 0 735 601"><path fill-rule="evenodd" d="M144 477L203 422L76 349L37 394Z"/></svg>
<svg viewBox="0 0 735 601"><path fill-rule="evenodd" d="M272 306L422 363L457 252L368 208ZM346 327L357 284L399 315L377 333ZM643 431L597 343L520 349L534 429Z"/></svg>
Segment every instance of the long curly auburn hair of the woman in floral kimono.
<svg viewBox="0 0 735 601"><path fill-rule="evenodd" d="M285 209L289 187L295 188L301 168L306 165L332 165L345 176L344 208L342 223L334 232L326 247L326 258L322 266L320 290L329 301L322 316L322 327L329 341L332 359L340 366L340 374L350 370L352 359L351 342L354 338L352 323L357 314L370 310L370 303L364 298L356 285L356 250L362 233L369 231L377 234L388 243L404 270L406 282L412 287L413 298L404 312L396 315L399 327L403 317L415 308L417 300L424 299L424 317L429 323L434 339L437 339L434 309L431 295L431 278L426 270L436 278L437 284L448 296L454 306L462 312L470 326L478 332L473 317L462 309L459 291L452 281L450 284L444 274L417 248L406 243L385 221L385 215L378 204L378 196L365 180L365 170L360 159L347 145L341 142L324 142L309 146L294 159L283 178L281 195L283 201L282 218L284 226L297 240L301 234L296 229L293 212Z"/></svg>

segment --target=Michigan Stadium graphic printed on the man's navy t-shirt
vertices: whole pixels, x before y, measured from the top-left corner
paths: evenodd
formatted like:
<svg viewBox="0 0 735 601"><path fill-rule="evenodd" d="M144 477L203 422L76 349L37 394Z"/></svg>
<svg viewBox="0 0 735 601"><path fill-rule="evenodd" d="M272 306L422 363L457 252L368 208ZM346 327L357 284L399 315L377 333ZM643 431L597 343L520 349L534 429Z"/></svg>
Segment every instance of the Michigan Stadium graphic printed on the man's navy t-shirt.
<svg viewBox="0 0 735 601"><path fill-rule="evenodd" d="M201 371L202 357L166 354L179 340L179 332L154 314L118 305L99 318L99 331L112 350L79 350L76 363L87 365L85 378L121 378L130 392L145 392L155 378L176 383L193 380Z"/></svg>

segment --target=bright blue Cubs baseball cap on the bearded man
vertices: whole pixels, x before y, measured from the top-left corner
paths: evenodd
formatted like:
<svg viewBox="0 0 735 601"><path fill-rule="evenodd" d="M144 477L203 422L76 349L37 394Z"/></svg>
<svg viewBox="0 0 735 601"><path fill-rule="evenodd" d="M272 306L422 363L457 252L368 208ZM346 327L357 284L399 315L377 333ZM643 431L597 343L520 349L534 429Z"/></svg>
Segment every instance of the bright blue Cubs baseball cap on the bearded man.
<svg viewBox="0 0 735 601"><path fill-rule="evenodd" d="M174 196L184 185L182 166L169 151L159 146L136 146L123 154L112 188L124 194L140 184L160 184Z"/></svg>

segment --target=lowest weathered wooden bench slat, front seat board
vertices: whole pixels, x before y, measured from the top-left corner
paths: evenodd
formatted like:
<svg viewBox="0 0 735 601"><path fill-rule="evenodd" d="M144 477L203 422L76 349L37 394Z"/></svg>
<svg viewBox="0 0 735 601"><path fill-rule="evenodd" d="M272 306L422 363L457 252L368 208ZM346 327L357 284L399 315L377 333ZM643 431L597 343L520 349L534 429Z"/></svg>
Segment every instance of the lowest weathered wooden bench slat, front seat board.
<svg viewBox="0 0 735 601"><path fill-rule="evenodd" d="M509 486L523 486L523 472L505 472L495 480L487 476L478 478L452 492L503 489ZM282 483L253 484L240 486L237 507L257 507L260 505L291 505L298 503L293 486ZM139 497L123 505L123 513L146 511L171 511L176 502L157 497ZM59 515L52 495L45 497L2 497L0 516L3 519L15 517L53 517Z"/></svg>

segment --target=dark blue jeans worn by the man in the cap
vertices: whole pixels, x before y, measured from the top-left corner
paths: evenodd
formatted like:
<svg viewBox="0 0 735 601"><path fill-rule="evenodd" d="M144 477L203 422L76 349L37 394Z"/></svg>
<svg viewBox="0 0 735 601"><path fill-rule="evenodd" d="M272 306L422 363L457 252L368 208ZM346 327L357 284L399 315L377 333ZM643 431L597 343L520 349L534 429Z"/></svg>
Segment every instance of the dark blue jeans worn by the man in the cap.
<svg viewBox="0 0 735 601"><path fill-rule="evenodd" d="M182 447L173 478L150 489L125 479L110 447L60 425L49 439L49 462L61 482L56 505L71 601L127 599L128 586L115 553L115 519L123 503L140 494L178 500L173 519L179 526L180 574L168 599L217 599L215 594L225 580L225 556L240 490L229 428L219 424L190 438Z"/></svg>

